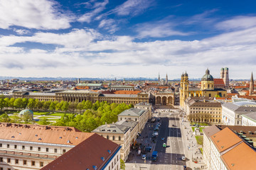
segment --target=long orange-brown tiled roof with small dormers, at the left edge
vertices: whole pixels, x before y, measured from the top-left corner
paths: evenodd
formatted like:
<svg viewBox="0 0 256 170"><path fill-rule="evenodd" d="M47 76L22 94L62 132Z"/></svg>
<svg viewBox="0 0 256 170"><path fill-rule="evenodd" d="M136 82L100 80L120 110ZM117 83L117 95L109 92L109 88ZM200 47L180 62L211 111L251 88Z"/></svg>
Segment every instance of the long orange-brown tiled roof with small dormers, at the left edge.
<svg viewBox="0 0 256 170"><path fill-rule="evenodd" d="M58 145L78 145L93 133L73 127L0 123L1 140L19 140Z"/></svg>

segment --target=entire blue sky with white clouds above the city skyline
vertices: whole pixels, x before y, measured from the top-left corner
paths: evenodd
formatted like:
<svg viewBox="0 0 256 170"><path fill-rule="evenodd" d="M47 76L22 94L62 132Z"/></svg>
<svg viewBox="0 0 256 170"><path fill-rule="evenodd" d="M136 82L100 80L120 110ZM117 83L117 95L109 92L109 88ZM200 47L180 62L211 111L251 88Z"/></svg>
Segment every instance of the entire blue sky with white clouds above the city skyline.
<svg viewBox="0 0 256 170"><path fill-rule="evenodd" d="M256 74L256 1L0 0L0 76Z"/></svg>

